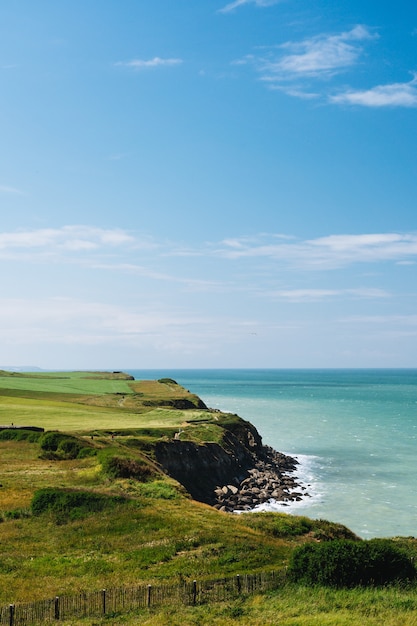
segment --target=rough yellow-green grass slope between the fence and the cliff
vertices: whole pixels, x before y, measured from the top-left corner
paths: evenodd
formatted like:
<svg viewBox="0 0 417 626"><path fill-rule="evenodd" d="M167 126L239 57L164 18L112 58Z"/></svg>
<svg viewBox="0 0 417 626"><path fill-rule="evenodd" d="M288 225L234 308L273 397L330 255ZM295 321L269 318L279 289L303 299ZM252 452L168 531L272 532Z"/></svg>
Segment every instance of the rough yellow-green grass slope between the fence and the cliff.
<svg viewBox="0 0 417 626"><path fill-rule="evenodd" d="M93 443L102 451L142 458L140 450L124 445L123 437L97 436ZM139 581L277 569L287 564L293 545L311 531L324 532L322 522L305 527L289 518L285 538L274 536L255 523L262 514L219 513L191 500L164 474L145 483L113 480L102 471L99 456L51 460L39 458L40 451L36 443L0 441L0 603ZM18 519L6 515L30 509L34 493L42 489L55 490L53 495L79 491L81 502L86 491L122 496L128 504L91 515L83 509L82 519L54 510Z"/></svg>

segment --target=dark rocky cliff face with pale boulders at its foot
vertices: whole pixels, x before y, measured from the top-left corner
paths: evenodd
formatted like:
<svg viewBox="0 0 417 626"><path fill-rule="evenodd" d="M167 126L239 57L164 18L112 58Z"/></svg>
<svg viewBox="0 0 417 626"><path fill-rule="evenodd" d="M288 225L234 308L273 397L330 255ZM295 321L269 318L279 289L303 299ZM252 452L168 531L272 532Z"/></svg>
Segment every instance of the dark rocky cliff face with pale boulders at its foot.
<svg viewBox="0 0 417 626"><path fill-rule="evenodd" d="M231 422L221 445L160 441L155 454L195 500L222 510L248 510L271 498L285 501L308 495L290 475L297 461L264 446L256 428L244 420Z"/></svg>

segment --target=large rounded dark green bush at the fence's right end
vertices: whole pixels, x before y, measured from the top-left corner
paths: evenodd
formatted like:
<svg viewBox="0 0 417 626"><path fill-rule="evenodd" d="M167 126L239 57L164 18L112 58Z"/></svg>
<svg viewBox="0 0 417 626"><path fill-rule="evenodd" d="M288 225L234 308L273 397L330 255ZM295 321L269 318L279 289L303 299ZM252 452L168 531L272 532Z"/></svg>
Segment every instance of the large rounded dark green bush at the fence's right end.
<svg viewBox="0 0 417 626"><path fill-rule="evenodd" d="M410 559L388 539L337 540L296 548L290 579L306 585L355 587L410 581L415 569Z"/></svg>

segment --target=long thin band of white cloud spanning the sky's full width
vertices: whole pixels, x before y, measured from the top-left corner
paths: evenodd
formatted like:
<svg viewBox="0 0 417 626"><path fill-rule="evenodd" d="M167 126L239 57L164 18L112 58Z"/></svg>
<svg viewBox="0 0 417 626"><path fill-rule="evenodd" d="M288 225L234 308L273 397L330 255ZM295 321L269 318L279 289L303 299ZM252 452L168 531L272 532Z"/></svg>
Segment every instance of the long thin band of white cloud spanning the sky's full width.
<svg viewBox="0 0 417 626"><path fill-rule="evenodd" d="M80 252L94 255L103 250L118 251L112 264L98 262L100 269L118 269L133 274L146 274L157 280L204 285L206 279L174 278L171 272L152 271L135 261L140 254L150 255L167 263L172 258L217 258L219 260L271 259L287 266L314 270L332 270L358 263L390 261L395 264L417 262L417 233L330 234L300 240L284 234L260 234L250 237L229 237L220 242L206 242L198 247L182 247L175 241L158 241L155 237L138 236L122 228L104 229L93 226L66 225L61 228L0 232L0 254L33 251L39 254ZM121 259L125 260L121 260ZM132 260L133 258L133 260ZM94 261L92 261L94 263ZM94 265L92 265L94 266Z"/></svg>

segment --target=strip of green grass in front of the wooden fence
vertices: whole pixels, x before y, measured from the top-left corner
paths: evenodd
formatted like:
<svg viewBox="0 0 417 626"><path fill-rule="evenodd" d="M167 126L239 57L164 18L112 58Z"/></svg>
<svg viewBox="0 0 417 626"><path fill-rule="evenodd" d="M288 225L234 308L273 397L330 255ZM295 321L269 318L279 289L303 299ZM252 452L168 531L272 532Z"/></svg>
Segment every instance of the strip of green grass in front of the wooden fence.
<svg viewBox="0 0 417 626"><path fill-rule="evenodd" d="M410 589L349 591L285 586L277 592L197 607L172 605L63 626L417 626L417 594Z"/></svg>

